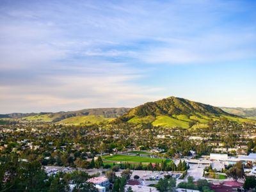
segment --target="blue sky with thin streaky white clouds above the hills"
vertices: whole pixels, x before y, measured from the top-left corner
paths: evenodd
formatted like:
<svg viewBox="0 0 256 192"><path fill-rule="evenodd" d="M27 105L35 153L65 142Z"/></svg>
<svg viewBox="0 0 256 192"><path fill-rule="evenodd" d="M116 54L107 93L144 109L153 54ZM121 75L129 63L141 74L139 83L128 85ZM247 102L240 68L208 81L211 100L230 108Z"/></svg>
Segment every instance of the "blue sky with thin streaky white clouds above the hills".
<svg viewBox="0 0 256 192"><path fill-rule="evenodd" d="M0 113L175 96L256 107L256 1L0 1Z"/></svg>

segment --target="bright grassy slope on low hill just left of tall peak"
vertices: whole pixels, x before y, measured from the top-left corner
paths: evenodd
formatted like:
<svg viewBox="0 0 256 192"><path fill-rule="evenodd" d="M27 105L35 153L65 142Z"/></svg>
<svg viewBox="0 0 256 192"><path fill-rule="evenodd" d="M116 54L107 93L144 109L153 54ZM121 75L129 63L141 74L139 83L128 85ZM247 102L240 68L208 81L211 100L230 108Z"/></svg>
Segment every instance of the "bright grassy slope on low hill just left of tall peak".
<svg viewBox="0 0 256 192"><path fill-rule="evenodd" d="M100 115L88 115L88 116L72 116L70 118L65 118L61 120L59 123L61 124L72 124L72 125L80 125L80 124L100 124L101 122L109 122L114 118L105 118Z"/></svg>

